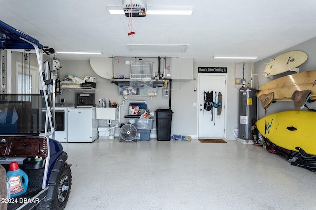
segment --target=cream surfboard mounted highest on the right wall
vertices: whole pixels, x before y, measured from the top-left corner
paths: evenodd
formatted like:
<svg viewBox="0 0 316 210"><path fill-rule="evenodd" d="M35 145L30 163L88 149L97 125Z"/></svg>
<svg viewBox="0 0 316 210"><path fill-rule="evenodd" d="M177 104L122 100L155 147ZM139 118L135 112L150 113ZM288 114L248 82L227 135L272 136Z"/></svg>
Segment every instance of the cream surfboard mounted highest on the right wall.
<svg viewBox="0 0 316 210"><path fill-rule="evenodd" d="M294 69L307 60L307 54L303 51L294 50L282 53L267 63L263 74L267 77L281 74Z"/></svg>

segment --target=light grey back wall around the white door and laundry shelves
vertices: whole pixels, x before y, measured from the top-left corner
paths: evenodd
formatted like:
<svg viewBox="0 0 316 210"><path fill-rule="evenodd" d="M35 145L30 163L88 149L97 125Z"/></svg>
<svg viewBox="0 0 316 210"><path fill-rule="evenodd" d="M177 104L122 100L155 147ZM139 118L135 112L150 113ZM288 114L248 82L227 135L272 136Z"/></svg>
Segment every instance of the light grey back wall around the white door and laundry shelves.
<svg viewBox="0 0 316 210"><path fill-rule="evenodd" d="M61 60L59 76L64 79L66 74L73 74L78 77L94 76L97 77L96 88L96 103L98 99L105 98L107 101L117 102L121 104L122 96L118 95L118 86L112 84L110 80L99 77L91 68L88 60ZM250 81L250 65L245 65L245 78L247 82ZM209 63L209 62L194 62L194 80L191 81L172 81L171 92L171 110L173 113L171 134L190 135L197 137L197 109L198 107L198 67L227 67L227 124L226 124L226 138L235 139L233 129L238 127L239 123L239 89L234 86L234 63ZM242 78L242 65L237 65L236 76ZM194 92L197 88L197 92ZM65 103L75 102L75 92L78 90L63 90L62 95L56 97L56 101L60 98L65 98ZM146 96L129 96L128 99L146 100L150 111L155 111L158 108L168 108L169 100L162 99L162 90L158 88L156 97ZM225 96L224 96L225 97ZM197 107L192 104L197 103ZM124 123L124 115L128 113L128 105L121 110L121 122ZM104 121L99 120L99 125L106 126ZM154 125L154 127L156 127Z"/></svg>

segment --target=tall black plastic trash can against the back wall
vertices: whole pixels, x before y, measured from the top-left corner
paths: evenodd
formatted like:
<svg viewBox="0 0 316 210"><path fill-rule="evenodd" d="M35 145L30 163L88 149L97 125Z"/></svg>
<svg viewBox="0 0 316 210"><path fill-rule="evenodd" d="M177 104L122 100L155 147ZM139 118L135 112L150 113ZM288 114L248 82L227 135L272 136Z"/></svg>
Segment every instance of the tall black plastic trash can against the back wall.
<svg viewBox="0 0 316 210"><path fill-rule="evenodd" d="M171 109L157 109L156 113L156 133L158 141L170 141L171 139Z"/></svg>

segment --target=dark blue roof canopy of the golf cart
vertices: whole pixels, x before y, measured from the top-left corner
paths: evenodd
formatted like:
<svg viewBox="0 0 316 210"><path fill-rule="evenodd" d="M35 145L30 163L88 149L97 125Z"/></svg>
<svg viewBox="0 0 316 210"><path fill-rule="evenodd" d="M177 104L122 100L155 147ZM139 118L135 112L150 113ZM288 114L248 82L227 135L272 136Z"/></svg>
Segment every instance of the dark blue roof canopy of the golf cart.
<svg viewBox="0 0 316 210"><path fill-rule="evenodd" d="M32 44L23 39L34 43L39 49L43 48L43 45L35 38L0 20L0 49L34 49Z"/></svg>

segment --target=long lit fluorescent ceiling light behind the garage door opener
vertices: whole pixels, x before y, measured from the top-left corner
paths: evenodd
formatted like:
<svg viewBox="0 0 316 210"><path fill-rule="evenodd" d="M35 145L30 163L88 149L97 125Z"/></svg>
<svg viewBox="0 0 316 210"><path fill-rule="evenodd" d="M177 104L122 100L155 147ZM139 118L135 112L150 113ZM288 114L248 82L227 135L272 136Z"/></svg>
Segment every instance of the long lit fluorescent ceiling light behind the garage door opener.
<svg viewBox="0 0 316 210"><path fill-rule="evenodd" d="M121 6L108 6L107 9L111 15L125 14L123 7ZM182 7L148 6L146 10L146 15L192 15L192 13L193 13L193 7L190 7L190 6L182 6Z"/></svg>

